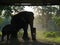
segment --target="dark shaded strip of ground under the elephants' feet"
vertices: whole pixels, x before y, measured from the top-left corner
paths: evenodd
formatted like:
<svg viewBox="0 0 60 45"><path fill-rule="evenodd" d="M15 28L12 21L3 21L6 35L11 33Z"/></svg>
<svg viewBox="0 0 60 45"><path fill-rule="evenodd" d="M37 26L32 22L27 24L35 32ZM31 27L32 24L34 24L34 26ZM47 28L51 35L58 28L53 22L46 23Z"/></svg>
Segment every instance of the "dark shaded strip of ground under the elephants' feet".
<svg viewBox="0 0 60 45"><path fill-rule="evenodd" d="M22 41L22 40L9 40L9 41L0 41L0 45L52 45L49 43L42 43L39 41Z"/></svg>

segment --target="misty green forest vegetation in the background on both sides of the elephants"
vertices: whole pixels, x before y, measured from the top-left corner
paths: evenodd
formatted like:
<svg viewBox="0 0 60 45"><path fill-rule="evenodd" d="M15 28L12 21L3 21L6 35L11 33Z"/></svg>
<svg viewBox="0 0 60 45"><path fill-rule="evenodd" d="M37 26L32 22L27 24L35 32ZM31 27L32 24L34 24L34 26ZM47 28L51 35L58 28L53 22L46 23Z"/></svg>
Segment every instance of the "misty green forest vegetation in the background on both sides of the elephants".
<svg viewBox="0 0 60 45"><path fill-rule="evenodd" d="M29 7L34 10L34 26L38 30L37 38L41 39L42 37L44 37L43 39L48 38L48 40L50 40L50 38L56 40L60 39L60 6L46 5ZM15 13L24 10L24 8L25 6L0 6L0 30L2 30L3 26L10 23L11 17ZM18 34L20 35L21 32L19 32Z"/></svg>

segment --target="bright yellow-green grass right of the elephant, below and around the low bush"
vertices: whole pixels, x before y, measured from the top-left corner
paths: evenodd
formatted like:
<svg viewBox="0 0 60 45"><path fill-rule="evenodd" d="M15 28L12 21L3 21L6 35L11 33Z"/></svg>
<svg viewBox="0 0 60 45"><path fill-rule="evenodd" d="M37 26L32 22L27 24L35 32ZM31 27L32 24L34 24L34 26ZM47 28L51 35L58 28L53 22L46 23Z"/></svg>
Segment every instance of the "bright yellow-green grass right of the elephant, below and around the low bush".
<svg viewBox="0 0 60 45"><path fill-rule="evenodd" d="M29 36L31 37L30 31L28 32ZM38 41L43 41L43 42L56 42L60 43L60 36L57 37L45 37L45 34L43 31L36 31L36 39Z"/></svg>

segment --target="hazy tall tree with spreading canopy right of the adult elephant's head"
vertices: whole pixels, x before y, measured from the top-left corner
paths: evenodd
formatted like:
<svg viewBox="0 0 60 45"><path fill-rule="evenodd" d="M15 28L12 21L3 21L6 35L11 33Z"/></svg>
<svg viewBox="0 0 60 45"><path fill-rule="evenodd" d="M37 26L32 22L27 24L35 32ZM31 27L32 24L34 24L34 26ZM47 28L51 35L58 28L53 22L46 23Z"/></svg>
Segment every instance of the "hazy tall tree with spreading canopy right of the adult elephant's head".
<svg viewBox="0 0 60 45"><path fill-rule="evenodd" d="M43 28L54 27L55 22L53 21L52 17L56 15L58 8L54 5L45 5L45 6L35 6L34 11L39 15ZM50 26L52 24L52 26ZM54 27L56 28L56 27ZM50 29L49 29L50 30Z"/></svg>

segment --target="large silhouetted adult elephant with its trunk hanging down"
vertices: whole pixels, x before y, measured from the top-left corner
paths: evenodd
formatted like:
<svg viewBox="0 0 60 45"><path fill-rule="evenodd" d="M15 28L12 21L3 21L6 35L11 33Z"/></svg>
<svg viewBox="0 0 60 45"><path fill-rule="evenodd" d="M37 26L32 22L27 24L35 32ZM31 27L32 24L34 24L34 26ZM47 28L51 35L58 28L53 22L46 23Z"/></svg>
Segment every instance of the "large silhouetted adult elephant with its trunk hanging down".
<svg viewBox="0 0 60 45"><path fill-rule="evenodd" d="M13 24L15 27L17 27L18 31L19 29L23 28L24 33L23 33L23 39L29 39L28 37L28 24L30 25L31 28L31 36L32 39L34 39L33 37L33 20L34 20L34 14L33 12L28 12L28 11L22 11L16 15L14 15L11 19L11 24ZM15 36L17 37L17 33L15 34Z"/></svg>

